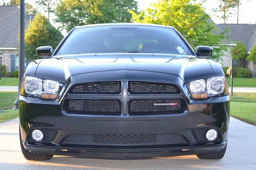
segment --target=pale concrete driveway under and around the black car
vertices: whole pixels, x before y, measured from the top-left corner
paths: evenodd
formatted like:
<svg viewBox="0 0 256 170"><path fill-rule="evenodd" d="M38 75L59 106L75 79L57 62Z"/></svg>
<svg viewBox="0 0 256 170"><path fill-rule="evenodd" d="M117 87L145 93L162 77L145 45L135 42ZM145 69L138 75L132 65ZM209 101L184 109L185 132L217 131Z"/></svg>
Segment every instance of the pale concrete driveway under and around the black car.
<svg viewBox="0 0 256 170"><path fill-rule="evenodd" d="M50 161L27 161L20 151L18 119L0 124L0 169L256 169L256 127L230 119L226 155L200 160L195 155L145 160L103 160L54 156Z"/></svg>

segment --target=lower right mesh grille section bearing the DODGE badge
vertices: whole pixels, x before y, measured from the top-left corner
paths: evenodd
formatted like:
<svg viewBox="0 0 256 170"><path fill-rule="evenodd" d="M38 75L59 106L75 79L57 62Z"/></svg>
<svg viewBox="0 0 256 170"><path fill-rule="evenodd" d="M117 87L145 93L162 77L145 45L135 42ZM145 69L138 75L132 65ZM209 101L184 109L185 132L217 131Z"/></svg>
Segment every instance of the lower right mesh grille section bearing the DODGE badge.
<svg viewBox="0 0 256 170"><path fill-rule="evenodd" d="M181 109L180 100L132 100L129 102L130 115L171 114Z"/></svg>

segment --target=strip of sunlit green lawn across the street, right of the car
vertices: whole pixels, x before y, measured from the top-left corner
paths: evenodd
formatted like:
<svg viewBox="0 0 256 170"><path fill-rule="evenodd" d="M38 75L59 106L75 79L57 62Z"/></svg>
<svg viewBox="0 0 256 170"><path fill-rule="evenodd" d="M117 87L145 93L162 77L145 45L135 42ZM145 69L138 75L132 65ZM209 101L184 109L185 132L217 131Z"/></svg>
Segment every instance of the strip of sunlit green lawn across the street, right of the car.
<svg viewBox="0 0 256 170"><path fill-rule="evenodd" d="M228 86L231 88L231 79L227 77ZM256 78L233 78L233 87L256 87Z"/></svg>

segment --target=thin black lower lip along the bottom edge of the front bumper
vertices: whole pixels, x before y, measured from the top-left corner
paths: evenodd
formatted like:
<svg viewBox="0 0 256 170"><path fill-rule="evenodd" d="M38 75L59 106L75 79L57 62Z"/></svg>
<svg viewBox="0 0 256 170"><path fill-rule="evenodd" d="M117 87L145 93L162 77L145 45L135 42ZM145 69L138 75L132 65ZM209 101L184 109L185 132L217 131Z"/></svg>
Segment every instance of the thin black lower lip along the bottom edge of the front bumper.
<svg viewBox="0 0 256 170"><path fill-rule="evenodd" d="M59 146L38 146L24 143L26 150L46 155L65 155L97 159L146 159L154 157L195 155L218 152L225 148L226 141L219 144L205 144L189 147L147 148L147 149L103 149L103 148L72 148Z"/></svg>

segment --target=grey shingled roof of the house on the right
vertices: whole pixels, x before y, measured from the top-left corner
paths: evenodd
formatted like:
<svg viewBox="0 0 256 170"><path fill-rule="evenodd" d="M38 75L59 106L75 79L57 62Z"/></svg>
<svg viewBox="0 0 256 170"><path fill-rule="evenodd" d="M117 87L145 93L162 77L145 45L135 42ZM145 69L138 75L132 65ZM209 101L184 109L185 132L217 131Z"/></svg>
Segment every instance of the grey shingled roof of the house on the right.
<svg viewBox="0 0 256 170"><path fill-rule="evenodd" d="M234 41L241 41L250 52L253 45L256 45L256 24L218 24L222 30L229 29L227 33Z"/></svg>

